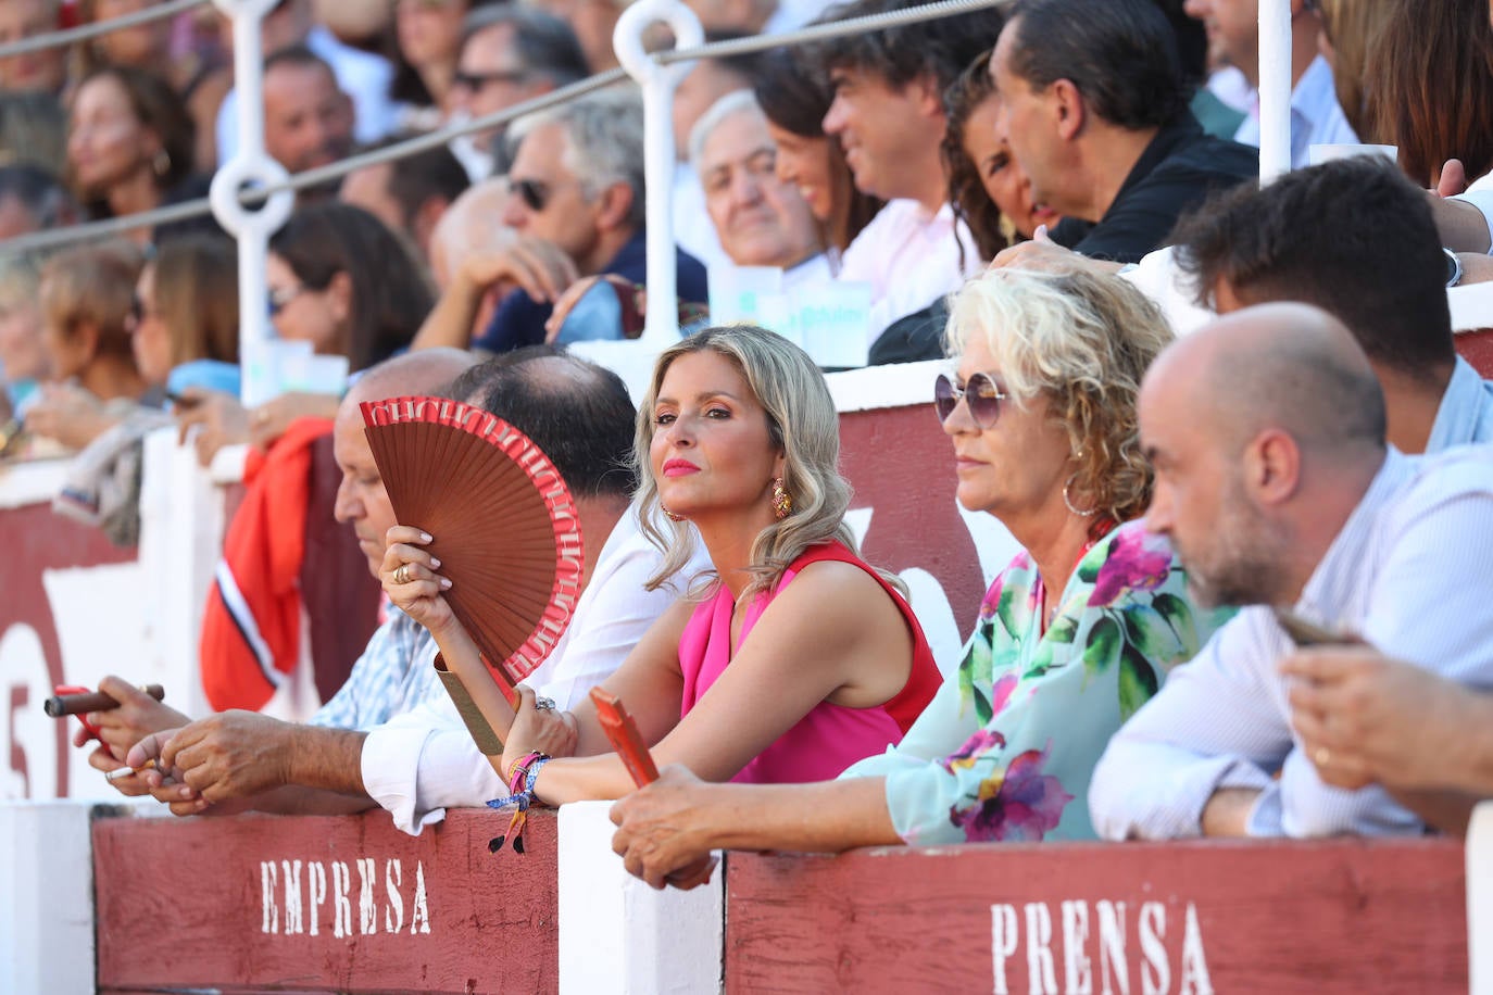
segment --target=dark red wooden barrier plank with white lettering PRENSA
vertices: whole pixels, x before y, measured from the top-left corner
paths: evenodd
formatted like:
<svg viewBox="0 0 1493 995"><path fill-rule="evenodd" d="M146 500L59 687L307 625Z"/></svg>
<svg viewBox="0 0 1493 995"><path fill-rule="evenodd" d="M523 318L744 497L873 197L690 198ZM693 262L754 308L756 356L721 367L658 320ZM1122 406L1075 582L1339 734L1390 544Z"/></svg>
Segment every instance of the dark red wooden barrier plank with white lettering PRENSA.
<svg viewBox="0 0 1493 995"><path fill-rule="evenodd" d="M1465 904L1447 840L732 853L726 989L1466 992Z"/></svg>

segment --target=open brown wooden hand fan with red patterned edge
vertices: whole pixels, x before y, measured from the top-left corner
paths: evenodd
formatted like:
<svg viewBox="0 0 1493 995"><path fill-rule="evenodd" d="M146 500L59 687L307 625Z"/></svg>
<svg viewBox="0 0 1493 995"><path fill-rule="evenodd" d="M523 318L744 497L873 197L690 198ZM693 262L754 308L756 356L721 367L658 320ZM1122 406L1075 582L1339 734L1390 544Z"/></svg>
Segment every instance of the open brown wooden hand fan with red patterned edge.
<svg viewBox="0 0 1493 995"><path fill-rule="evenodd" d="M439 397L361 406L402 525L451 579L445 598L509 704L549 656L581 597L581 522L549 458L496 415Z"/></svg>

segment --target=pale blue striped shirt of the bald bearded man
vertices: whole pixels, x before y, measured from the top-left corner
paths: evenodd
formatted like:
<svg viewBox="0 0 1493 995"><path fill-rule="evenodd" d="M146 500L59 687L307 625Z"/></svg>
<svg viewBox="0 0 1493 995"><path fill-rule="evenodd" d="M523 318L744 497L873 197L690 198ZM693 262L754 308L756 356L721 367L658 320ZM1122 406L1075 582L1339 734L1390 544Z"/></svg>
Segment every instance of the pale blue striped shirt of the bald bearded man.
<svg viewBox="0 0 1493 995"><path fill-rule="evenodd" d="M1296 610L1442 677L1493 688L1490 592L1493 446L1435 456L1390 449ZM1099 835L1196 837L1203 806L1223 788L1260 792L1251 835L1421 832L1383 788L1341 791L1317 777L1277 673L1290 650L1269 609L1248 607L1172 671L1094 770L1088 806Z"/></svg>

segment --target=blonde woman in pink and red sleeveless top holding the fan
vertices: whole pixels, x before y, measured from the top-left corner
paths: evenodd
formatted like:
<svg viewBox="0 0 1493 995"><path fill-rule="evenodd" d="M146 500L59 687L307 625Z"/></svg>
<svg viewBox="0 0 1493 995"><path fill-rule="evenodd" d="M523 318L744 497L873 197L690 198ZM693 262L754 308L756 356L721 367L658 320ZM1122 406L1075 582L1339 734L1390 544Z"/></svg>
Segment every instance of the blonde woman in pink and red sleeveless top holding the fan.
<svg viewBox="0 0 1493 995"><path fill-rule="evenodd" d="M664 550L649 583L690 594L603 686L655 756L708 780L809 782L900 740L941 677L899 583L855 553L839 418L808 354L751 325L684 339L654 367L635 452L643 531ZM632 791L593 704L539 710L521 688L515 716L440 597L421 533L396 527L390 540L384 589L499 732L505 752L490 759L515 794L561 804ZM675 576L697 542L712 574ZM575 734L570 756L536 755L557 724Z"/></svg>

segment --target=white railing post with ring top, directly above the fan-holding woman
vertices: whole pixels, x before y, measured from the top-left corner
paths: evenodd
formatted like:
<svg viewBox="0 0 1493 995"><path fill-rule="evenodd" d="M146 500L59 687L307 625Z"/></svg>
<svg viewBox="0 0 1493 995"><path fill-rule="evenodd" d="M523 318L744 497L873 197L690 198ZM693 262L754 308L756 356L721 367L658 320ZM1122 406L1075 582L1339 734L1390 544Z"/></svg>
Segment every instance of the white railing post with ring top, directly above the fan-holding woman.
<svg viewBox="0 0 1493 995"><path fill-rule="evenodd" d="M638 0L617 19L617 61L643 91L643 181L648 215L648 307L642 340L664 348L679 337L673 249L673 90L693 63L660 66L643 49L643 31L655 21L673 30L676 48L705 42L700 19L679 0Z"/></svg>

